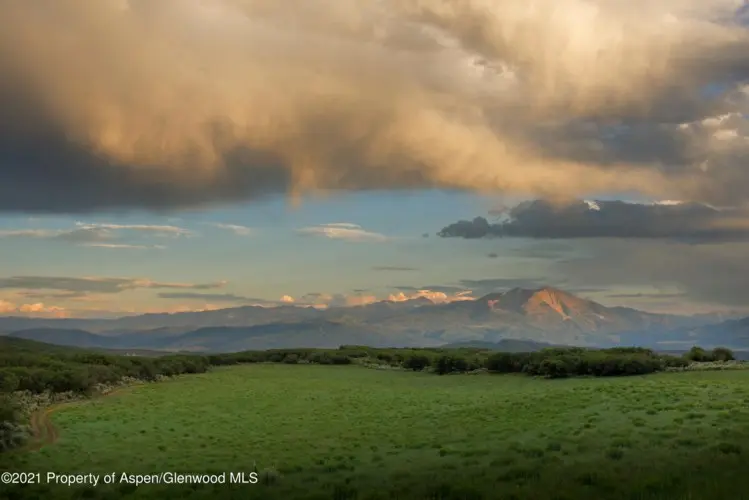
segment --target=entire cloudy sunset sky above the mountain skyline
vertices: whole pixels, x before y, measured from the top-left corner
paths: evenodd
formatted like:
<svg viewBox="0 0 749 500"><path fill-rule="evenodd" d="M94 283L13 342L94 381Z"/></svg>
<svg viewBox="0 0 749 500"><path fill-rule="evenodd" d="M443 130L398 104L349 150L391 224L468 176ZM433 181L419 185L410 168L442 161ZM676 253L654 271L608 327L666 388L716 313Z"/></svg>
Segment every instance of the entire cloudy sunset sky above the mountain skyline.
<svg viewBox="0 0 749 500"><path fill-rule="evenodd" d="M0 314L749 313L746 2L291 5L0 6Z"/></svg>

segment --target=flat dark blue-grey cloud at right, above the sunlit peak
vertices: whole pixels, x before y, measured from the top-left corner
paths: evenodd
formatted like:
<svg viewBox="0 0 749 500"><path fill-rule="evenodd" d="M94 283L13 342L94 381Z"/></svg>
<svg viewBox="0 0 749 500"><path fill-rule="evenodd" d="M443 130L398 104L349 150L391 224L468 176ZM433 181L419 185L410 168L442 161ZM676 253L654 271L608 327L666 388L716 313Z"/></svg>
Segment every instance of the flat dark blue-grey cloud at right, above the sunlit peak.
<svg viewBox="0 0 749 500"><path fill-rule="evenodd" d="M749 211L715 208L699 203L654 204L623 201L521 203L507 219L490 224L485 218L459 221L439 233L442 237L491 238L638 238L686 242L749 240Z"/></svg>

